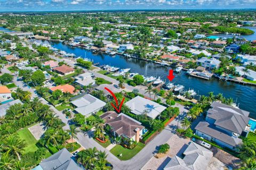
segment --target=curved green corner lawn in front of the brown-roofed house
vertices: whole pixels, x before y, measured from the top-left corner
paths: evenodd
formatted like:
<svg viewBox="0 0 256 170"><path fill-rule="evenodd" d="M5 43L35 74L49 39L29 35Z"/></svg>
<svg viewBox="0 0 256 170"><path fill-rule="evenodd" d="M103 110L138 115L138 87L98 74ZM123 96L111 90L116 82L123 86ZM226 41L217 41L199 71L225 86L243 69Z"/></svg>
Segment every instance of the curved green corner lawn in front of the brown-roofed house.
<svg viewBox="0 0 256 170"><path fill-rule="evenodd" d="M145 145L141 142L139 142L138 145L133 149L127 149L122 147L121 145L116 145L110 150L110 152L120 160L129 160L136 154L138 154L138 152L144 147ZM122 157L119 157L120 154L122 154Z"/></svg>

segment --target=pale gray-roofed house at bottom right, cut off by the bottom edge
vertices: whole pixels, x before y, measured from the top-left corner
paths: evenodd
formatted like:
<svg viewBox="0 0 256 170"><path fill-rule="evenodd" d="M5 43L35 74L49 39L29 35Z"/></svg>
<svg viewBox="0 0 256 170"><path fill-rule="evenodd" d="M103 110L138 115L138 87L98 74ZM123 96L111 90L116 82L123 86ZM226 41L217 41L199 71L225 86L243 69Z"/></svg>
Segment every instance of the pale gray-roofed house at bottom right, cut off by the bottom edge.
<svg viewBox="0 0 256 170"><path fill-rule="evenodd" d="M187 149L183 152L183 159L175 155L164 170L203 170L206 169L213 157L212 151L206 149L195 142L190 142Z"/></svg>

